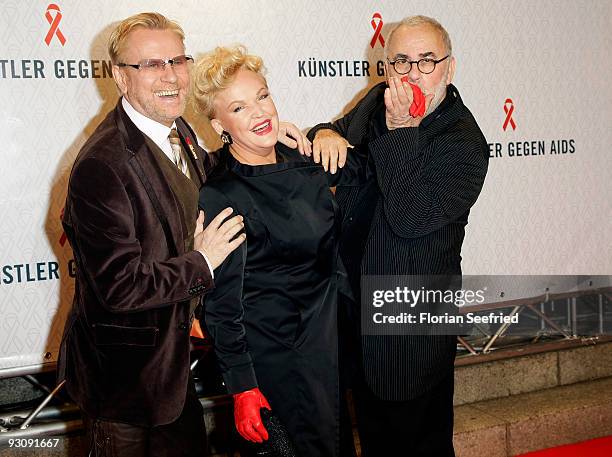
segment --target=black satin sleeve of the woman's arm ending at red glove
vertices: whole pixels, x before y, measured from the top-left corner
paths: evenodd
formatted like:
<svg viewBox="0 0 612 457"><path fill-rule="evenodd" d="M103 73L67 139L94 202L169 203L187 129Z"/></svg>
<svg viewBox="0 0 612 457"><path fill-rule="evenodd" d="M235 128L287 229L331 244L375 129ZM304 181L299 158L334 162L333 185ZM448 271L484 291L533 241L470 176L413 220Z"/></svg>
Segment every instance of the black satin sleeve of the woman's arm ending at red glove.
<svg viewBox="0 0 612 457"><path fill-rule="evenodd" d="M235 208L223 193L209 186L200 191L199 205L206 215L206 225L224 208ZM247 242L243 242L215 270L216 286L203 302L204 323L214 341L221 374L230 394L257 387L243 324L242 285Z"/></svg>

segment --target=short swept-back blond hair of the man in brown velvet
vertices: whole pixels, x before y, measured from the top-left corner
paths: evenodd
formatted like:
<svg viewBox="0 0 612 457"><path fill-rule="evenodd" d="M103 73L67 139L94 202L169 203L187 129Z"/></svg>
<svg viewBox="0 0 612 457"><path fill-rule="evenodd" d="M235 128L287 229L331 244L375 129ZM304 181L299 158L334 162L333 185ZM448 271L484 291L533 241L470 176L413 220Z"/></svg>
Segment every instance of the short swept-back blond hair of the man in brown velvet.
<svg viewBox="0 0 612 457"><path fill-rule="evenodd" d="M136 28L170 30L176 33L182 42L185 41L185 32L177 22L159 13L135 14L121 21L108 39L108 54L113 64L120 62L119 56L124 51L128 36Z"/></svg>

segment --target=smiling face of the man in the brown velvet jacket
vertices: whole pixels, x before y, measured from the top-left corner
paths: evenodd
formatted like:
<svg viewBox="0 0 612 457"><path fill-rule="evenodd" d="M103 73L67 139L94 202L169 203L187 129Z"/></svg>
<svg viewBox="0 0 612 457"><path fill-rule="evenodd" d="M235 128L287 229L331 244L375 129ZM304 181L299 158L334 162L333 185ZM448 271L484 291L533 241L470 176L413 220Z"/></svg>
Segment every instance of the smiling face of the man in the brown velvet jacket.
<svg viewBox="0 0 612 457"><path fill-rule="evenodd" d="M136 28L127 38L120 61L138 64L144 59L172 59L183 54L185 46L175 32ZM113 77L130 105L148 118L170 127L183 115L190 84L187 65L178 70L166 65L159 71L114 65Z"/></svg>

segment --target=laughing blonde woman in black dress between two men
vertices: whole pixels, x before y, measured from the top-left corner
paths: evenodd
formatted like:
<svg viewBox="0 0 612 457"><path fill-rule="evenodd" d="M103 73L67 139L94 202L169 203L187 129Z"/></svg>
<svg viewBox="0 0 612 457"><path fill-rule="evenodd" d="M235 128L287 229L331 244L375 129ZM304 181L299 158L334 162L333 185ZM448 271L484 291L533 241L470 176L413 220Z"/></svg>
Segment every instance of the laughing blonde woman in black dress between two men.
<svg viewBox="0 0 612 457"><path fill-rule="evenodd" d="M204 320L239 433L265 441L260 408L271 408L300 456L336 456L338 225L329 186L357 181L361 168L350 158L327 174L277 143L262 71L243 47L217 48L194 69L196 107L224 143L200 206L207 222L231 206L247 235L215 271Z"/></svg>

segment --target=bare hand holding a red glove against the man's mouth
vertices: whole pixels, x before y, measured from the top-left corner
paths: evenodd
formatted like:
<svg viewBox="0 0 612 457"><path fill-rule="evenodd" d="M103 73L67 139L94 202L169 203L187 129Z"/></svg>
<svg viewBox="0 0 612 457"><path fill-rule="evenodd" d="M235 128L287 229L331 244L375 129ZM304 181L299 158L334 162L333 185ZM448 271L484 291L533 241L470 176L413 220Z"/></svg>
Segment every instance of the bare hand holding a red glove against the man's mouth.
<svg viewBox="0 0 612 457"><path fill-rule="evenodd" d="M407 81L400 81L399 78L389 78L389 87L385 89L385 120L389 130L402 127L418 127L424 116L412 117L410 106L412 105L412 88ZM425 96L425 110L427 112L433 94Z"/></svg>

